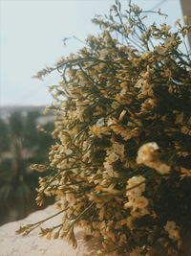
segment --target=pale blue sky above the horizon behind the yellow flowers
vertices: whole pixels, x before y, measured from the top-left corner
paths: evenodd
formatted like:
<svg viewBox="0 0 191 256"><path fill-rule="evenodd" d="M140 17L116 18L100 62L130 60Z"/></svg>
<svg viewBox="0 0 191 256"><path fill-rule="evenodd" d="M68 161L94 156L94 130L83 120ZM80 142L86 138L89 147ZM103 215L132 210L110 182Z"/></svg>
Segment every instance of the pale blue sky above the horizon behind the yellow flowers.
<svg viewBox="0 0 191 256"><path fill-rule="evenodd" d="M120 2L123 6L128 3ZM133 2L144 10L160 4L171 24L181 17L179 0ZM108 13L114 3L115 0L0 0L0 106L50 105L47 86L59 78L38 81L31 77L82 46L73 39L65 47L64 37L75 35L83 40L96 34L98 28L91 19L96 13Z"/></svg>

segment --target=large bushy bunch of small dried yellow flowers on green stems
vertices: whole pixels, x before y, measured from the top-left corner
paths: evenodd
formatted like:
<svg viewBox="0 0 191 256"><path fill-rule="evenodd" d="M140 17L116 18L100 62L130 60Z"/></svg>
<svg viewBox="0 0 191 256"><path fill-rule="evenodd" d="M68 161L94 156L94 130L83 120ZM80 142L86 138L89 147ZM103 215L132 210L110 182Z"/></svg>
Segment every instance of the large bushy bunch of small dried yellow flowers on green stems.
<svg viewBox="0 0 191 256"><path fill-rule="evenodd" d="M32 166L47 172L37 203L55 197L62 220L41 236L75 247L79 225L100 238L102 255L182 255L191 226L191 61L180 43L191 26L178 22L172 32L146 26L144 16L131 4L122 13L117 1L93 20L100 35L36 75L57 70L62 78L50 87L50 166Z"/></svg>

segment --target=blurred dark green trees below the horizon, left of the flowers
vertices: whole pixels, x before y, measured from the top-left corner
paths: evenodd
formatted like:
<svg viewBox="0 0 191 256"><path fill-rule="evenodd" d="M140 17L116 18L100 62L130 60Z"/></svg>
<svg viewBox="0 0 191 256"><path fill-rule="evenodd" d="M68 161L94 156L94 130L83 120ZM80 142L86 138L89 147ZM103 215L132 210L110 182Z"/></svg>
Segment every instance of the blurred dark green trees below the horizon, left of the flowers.
<svg viewBox="0 0 191 256"><path fill-rule="evenodd" d="M48 162L53 142L49 132L37 130L39 111L13 112L10 118L0 118L0 224L24 218L36 208L34 203L38 174L33 162ZM45 117L46 118L46 117ZM45 122L46 123L46 122ZM53 130L53 123L44 125Z"/></svg>

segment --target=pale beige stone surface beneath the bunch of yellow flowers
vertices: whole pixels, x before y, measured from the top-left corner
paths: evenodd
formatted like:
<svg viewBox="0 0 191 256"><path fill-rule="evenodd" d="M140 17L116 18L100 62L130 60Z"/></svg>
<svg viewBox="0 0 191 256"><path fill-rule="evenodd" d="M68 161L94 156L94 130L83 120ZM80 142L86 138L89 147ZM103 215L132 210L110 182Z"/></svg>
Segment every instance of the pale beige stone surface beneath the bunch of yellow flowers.
<svg viewBox="0 0 191 256"><path fill-rule="evenodd" d="M61 239L47 240L39 238L37 233L39 229L33 230L28 236L15 235L15 230L20 225L26 225L36 221L41 221L56 213L53 205L44 210L32 213L22 221L14 221L4 224L0 227L0 256L96 256L99 244L96 239L88 242L84 241L83 232L75 229L77 248L73 249L72 245L67 244ZM53 226L60 223L61 216L57 216L43 227Z"/></svg>

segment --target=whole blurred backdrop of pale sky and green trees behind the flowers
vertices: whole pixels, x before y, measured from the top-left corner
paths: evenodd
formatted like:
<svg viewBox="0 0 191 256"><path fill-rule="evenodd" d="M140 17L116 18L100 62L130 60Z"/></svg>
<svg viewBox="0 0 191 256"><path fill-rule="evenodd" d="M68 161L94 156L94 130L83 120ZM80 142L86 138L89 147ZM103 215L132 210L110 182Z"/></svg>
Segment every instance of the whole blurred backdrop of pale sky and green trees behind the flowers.
<svg viewBox="0 0 191 256"><path fill-rule="evenodd" d="M128 1L120 2L125 9ZM191 14L190 0L132 2L145 11L167 13L166 19L149 15L149 21L158 24L174 26L183 12ZM53 113L43 116L42 111L52 104L48 86L60 79L56 74L43 81L32 76L76 52L88 35L97 35L91 19L109 13L113 4L115 0L0 0L0 224L37 209L34 188L39 175L30 165L48 163L53 143ZM66 37L71 39L64 45ZM37 130L37 125L48 132Z"/></svg>

